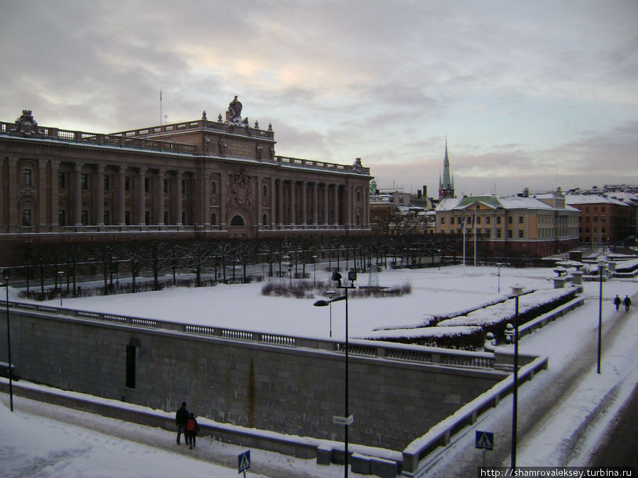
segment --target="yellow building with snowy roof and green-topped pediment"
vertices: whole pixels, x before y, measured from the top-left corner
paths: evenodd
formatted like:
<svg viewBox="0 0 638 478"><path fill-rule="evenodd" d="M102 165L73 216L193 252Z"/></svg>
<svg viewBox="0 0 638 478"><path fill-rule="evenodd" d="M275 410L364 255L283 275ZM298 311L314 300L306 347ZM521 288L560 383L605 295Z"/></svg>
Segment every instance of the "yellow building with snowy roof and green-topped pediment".
<svg viewBox="0 0 638 478"><path fill-rule="evenodd" d="M549 256L578 246L578 210L560 191L551 204L535 198L494 195L441 200L437 232L482 235L492 250Z"/></svg>

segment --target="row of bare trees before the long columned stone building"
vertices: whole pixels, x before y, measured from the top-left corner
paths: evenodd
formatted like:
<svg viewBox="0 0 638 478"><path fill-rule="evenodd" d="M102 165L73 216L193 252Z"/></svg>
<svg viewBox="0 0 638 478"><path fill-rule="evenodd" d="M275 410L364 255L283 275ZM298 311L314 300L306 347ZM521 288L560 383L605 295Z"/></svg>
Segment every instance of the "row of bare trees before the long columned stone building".
<svg viewBox="0 0 638 478"><path fill-rule="evenodd" d="M119 275L131 280L132 292L138 288L140 275L152 275L152 288L159 290L160 277L172 274L177 282L178 271L194 273L196 286L202 285L203 275L214 280L237 281L237 268L241 280L249 279L248 268L262 264L264 275L306 276L306 266L316 262L334 268L365 271L372 263L388 267L399 264L408 267L433 265L446 258L457 262L462 250L462 237L457 234L427 234L401 236L330 237L323 240L308 237L278 239L164 241L159 239L113 242L71 242L19 246L21 261L14 269L14 278L26 280L26 288L37 281L45 296L45 285L54 284L55 290L77 296L80 278L99 275L103 293L113 290L113 280ZM479 254L486 256L488 249L479 241ZM229 277L229 268L232 276ZM253 273L255 268L253 268ZM293 272L294 271L294 272Z"/></svg>

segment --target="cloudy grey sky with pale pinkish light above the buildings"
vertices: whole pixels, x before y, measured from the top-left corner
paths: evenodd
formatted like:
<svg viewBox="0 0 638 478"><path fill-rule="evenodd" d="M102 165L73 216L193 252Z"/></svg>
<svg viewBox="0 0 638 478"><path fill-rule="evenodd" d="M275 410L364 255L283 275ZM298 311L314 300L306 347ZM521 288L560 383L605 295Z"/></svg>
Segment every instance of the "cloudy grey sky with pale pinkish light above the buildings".
<svg viewBox="0 0 638 478"><path fill-rule="evenodd" d="M0 0L0 65L6 122L116 132L237 95L276 154L361 157L381 188L436 196L446 135L457 195L638 183L635 0Z"/></svg>

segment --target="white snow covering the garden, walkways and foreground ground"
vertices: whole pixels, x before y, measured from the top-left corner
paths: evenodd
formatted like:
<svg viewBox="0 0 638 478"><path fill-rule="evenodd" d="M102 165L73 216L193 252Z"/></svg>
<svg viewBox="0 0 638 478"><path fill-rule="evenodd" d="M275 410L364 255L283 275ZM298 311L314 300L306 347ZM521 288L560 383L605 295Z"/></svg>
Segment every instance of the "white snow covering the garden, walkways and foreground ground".
<svg viewBox="0 0 638 478"><path fill-rule="evenodd" d="M409 282L412 293L403 297L350 300L349 334L366 336L379 328L420 326L432 315L491 303L509 292L515 283L526 288L553 288L549 278L555 273L549 268L501 268L500 273L501 294L498 294L496 268L453 266L440 270L384 271L379 274L380 285ZM328 273L318 271L317 278L327 280ZM359 274L358 283L366 285L367 276ZM311 298L264 297L261 287L262 284L171 288L135 295L69 299L64 306L234 329L328 336L327 307L312 307ZM638 381L638 356L634 353L638 345L638 314L615 312L612 306L616 294L635 295L638 282L610 280L603 285L605 335L600 375L595 372L598 283L585 283L584 287L586 305L521 341L522 353L549 356L549 370L539 373L520 389L519 466L586 465L605 426ZM16 291L11 291L11 296L16 295ZM50 305L59 302L50 301ZM343 302L332 305L333 337L344 335L344 317ZM2 399L6 402L6 395ZM29 411L22 411L21 407ZM189 450L173 453L176 447L170 432L81 412L65 411L64 422L39 416L60 416L62 412L50 411L55 408L16 397L15 414L0 409L3 476L169 477L187 470L184 473L191 476L217 477L237 473L240 447L201 439L194 453L199 460L192 460ZM87 426L87 421L92 423L89 428L106 430L106 434L72 424ZM473 470L475 476L476 466L482 462L482 455L474 449L475 428L495 433L497 449L488 452L488 465L508 465L510 425L511 399L505 399L484 414L474 428L455 437L452 446L430 465L428 476L450 476L452 469L459 470L454 472L456 476L466 476L461 470ZM337 465L320 467L313 460L259 450L251 453L252 471L257 476L342 474L342 467ZM226 468L202 460L222 463Z"/></svg>

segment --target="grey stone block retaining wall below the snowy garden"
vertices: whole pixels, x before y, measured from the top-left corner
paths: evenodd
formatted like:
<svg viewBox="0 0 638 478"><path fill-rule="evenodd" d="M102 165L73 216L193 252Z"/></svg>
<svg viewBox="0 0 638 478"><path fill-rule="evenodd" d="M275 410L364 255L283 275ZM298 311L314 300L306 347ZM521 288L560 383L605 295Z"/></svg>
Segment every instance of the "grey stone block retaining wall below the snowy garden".
<svg viewBox="0 0 638 478"><path fill-rule="evenodd" d="M165 411L186 400L216 421L342 439L343 426L332 423L344 414L342 353L39 312L12 310L10 317L12 362L23 380ZM126 387L127 346L135 351L135 388ZM349 440L402 450L505 376L351 353Z"/></svg>

